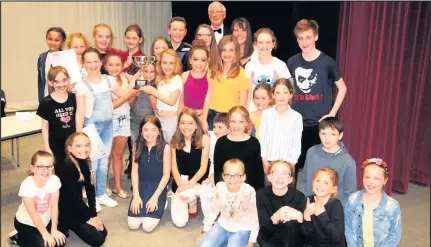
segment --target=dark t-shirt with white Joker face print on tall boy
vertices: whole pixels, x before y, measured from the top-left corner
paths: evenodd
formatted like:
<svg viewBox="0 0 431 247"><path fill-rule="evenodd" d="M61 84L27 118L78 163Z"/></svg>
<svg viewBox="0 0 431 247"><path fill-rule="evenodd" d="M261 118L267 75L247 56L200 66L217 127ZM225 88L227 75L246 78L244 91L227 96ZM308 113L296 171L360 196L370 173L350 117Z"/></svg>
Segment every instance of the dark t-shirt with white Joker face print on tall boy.
<svg viewBox="0 0 431 247"><path fill-rule="evenodd" d="M323 52L313 61L305 61L301 53L287 60L295 81L292 108L301 113L304 126L316 126L331 111L335 81L341 73L337 63Z"/></svg>

